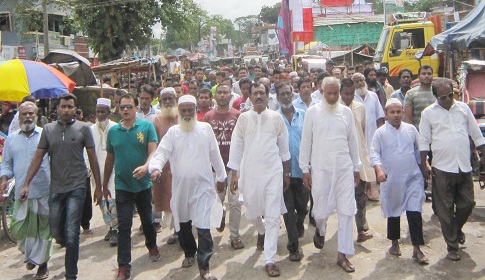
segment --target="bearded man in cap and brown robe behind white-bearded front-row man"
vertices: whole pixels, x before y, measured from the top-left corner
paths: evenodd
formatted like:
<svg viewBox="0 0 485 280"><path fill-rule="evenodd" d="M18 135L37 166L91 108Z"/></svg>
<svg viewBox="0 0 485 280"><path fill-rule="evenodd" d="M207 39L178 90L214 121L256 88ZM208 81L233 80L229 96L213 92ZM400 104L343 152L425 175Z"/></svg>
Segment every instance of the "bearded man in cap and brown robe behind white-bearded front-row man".
<svg viewBox="0 0 485 280"><path fill-rule="evenodd" d="M177 93L172 87L164 88L160 92L160 113L153 119L158 139L162 139L168 129L178 124ZM153 204L155 212L163 212L165 221L172 220L170 210L170 198L172 198L172 173L170 163L167 162L162 168L162 175L159 181L153 182ZM175 244L178 241L177 233L174 232L168 239L168 244Z"/></svg>

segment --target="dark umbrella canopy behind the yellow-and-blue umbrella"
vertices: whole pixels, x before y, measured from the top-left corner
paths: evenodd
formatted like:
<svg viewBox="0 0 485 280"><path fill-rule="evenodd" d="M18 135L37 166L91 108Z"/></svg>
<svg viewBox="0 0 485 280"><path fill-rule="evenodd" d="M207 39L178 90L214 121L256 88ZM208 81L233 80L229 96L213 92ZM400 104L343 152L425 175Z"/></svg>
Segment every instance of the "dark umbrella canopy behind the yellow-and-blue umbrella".
<svg viewBox="0 0 485 280"><path fill-rule="evenodd" d="M78 86L92 86L96 85L96 77L91 70L91 62L77 52L70 50L53 50L47 54L44 58L44 62L47 64L57 63L58 66L63 69L69 78L71 78ZM78 63L78 67L74 71L68 71L64 69L66 67L63 63ZM72 65L72 64L71 64ZM70 73L68 73L70 72Z"/></svg>

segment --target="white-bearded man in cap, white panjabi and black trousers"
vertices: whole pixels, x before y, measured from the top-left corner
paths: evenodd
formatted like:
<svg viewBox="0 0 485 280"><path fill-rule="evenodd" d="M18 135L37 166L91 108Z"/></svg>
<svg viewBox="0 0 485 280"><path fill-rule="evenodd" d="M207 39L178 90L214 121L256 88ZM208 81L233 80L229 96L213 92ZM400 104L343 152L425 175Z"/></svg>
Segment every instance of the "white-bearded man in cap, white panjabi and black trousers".
<svg viewBox="0 0 485 280"><path fill-rule="evenodd" d="M170 208L185 253L182 267L192 266L197 253L200 277L217 279L209 271L209 260L214 252L210 228L220 225L222 204L214 189L212 168L216 173L218 192L224 189L226 170L212 127L197 121L195 97L180 97L178 111L179 124L168 129L150 160L151 180L160 179L163 166L170 160ZM192 223L197 227L198 246Z"/></svg>

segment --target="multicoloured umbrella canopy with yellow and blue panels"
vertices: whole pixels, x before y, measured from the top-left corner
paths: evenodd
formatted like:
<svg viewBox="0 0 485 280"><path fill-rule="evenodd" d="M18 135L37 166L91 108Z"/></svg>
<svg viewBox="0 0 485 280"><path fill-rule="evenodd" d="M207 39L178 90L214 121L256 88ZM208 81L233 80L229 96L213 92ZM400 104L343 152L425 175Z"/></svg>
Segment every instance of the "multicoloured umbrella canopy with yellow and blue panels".
<svg viewBox="0 0 485 280"><path fill-rule="evenodd" d="M59 70L42 62L0 62L0 100L20 102L27 95L55 98L72 92L76 84Z"/></svg>

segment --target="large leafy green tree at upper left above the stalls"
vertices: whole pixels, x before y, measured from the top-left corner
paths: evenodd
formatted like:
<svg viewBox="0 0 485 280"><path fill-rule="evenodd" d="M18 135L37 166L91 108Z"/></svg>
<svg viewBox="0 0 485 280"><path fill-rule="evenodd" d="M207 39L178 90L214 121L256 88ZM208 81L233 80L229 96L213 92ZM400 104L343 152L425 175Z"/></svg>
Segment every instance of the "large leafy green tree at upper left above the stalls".
<svg viewBox="0 0 485 280"><path fill-rule="evenodd" d="M153 35L151 27L157 22L167 28L183 26L185 2L83 0L75 6L74 19L99 59L107 61L119 58L127 48L146 47Z"/></svg>

